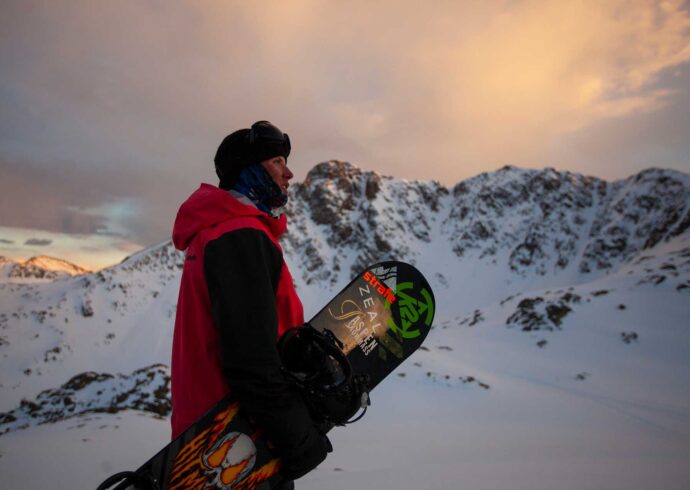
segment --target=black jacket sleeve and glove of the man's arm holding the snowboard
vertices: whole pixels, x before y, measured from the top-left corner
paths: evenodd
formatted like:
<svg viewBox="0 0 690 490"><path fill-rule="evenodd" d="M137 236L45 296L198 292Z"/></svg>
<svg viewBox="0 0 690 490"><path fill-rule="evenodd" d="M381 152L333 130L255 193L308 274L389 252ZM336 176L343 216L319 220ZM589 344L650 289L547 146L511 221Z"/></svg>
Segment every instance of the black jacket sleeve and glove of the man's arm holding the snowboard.
<svg viewBox="0 0 690 490"><path fill-rule="evenodd" d="M289 461L314 451L320 455L324 443L281 372L275 293L282 267L280 250L256 229L228 232L204 251L223 375L243 410Z"/></svg>

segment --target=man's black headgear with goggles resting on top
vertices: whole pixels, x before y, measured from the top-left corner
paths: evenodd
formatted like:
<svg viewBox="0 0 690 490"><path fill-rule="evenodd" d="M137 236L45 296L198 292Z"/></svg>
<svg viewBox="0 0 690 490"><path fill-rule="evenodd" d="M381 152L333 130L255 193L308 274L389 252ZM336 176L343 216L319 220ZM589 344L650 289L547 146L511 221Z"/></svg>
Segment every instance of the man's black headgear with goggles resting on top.
<svg viewBox="0 0 690 490"><path fill-rule="evenodd" d="M287 161L290 138L268 121L258 121L225 137L214 159L221 189L231 189L242 169L274 157ZM280 185L280 184L279 184Z"/></svg>

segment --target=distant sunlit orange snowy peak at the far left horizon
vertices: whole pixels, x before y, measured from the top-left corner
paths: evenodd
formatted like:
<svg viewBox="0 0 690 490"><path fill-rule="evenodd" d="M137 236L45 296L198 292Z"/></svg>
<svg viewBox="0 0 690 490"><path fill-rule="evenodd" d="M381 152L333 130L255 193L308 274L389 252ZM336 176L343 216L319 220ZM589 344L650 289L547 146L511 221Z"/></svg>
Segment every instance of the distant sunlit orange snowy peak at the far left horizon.
<svg viewBox="0 0 690 490"><path fill-rule="evenodd" d="M0 281L35 282L38 279L53 281L88 272L90 272L88 269L66 260L45 255L31 257L24 262L15 262L6 257L0 257Z"/></svg>

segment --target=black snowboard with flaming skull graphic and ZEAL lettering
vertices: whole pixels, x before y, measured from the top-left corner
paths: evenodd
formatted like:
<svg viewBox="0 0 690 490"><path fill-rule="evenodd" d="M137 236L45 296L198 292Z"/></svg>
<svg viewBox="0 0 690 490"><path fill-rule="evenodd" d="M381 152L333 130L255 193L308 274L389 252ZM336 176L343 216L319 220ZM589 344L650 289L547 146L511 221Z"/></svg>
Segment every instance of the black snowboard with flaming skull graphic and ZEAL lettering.
<svg viewBox="0 0 690 490"><path fill-rule="evenodd" d="M352 375L366 376L371 392L422 344L434 310L421 272L387 261L358 274L308 323L336 339ZM229 395L126 480L114 475L99 489L119 481L119 490L270 490L283 481L280 465L271 442Z"/></svg>

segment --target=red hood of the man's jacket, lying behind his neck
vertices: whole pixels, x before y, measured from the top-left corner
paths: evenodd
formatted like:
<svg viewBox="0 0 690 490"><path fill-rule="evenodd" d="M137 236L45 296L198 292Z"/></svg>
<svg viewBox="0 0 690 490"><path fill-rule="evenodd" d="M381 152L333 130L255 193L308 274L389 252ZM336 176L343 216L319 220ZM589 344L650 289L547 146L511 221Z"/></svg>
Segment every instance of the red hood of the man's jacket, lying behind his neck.
<svg viewBox="0 0 690 490"><path fill-rule="evenodd" d="M177 211L173 226L173 244L178 250L185 250L202 230L219 223L240 217L256 217L261 220L278 239L287 229L287 218L272 218L263 211L242 204L227 191L213 185L201 184Z"/></svg>

